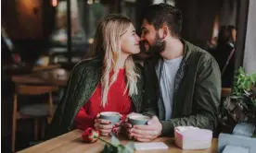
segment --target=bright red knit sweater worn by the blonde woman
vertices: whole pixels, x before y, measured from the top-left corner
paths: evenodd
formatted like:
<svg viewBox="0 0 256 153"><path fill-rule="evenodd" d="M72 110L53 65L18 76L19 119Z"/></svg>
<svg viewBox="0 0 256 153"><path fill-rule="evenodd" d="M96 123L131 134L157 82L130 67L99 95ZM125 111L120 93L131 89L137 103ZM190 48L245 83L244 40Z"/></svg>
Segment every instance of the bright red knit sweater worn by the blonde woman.
<svg viewBox="0 0 256 153"><path fill-rule="evenodd" d="M96 114L100 112L120 112L124 115L132 112L131 98L127 91L123 94L125 86L125 70L120 69L117 80L109 88L108 103L103 108L101 106L101 84L99 83L90 100L76 114L74 119L75 127L82 130L87 127L93 127Z"/></svg>

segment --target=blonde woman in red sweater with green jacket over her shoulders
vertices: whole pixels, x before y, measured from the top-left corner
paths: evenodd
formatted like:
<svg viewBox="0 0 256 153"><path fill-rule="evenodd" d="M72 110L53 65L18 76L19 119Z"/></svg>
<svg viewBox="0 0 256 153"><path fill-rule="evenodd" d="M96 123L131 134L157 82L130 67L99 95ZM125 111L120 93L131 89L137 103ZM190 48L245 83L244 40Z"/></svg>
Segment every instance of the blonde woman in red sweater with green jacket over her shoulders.
<svg viewBox="0 0 256 153"><path fill-rule="evenodd" d="M87 127L109 135L120 124L99 119L99 112L141 112L143 76L131 57L140 52L139 41L128 18L111 15L99 23L92 51L71 72L50 137Z"/></svg>

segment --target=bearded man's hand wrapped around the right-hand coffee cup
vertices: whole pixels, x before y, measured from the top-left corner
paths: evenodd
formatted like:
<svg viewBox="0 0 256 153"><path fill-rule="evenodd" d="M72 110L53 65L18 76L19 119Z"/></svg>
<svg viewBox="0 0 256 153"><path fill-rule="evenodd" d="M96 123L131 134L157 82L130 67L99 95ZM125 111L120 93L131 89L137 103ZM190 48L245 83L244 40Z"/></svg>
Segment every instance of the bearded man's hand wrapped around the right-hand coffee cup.
<svg viewBox="0 0 256 153"><path fill-rule="evenodd" d="M148 120L147 125L134 125L130 130L129 137L141 142L152 141L161 134L162 125L157 116Z"/></svg>

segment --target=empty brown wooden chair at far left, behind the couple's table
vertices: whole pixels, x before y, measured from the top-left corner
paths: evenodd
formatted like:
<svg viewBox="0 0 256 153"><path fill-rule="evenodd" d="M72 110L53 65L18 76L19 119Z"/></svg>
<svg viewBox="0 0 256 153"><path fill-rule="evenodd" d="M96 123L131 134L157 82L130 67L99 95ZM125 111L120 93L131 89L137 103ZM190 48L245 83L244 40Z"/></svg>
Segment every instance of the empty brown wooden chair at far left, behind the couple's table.
<svg viewBox="0 0 256 153"><path fill-rule="evenodd" d="M13 117L12 117L12 152L15 152L16 128L17 120L30 118L34 120L34 139L38 136L38 120L39 118L47 118L48 124L54 115L55 106L53 104L52 92L58 91L58 87L54 86L32 86L32 85L16 85L13 100ZM21 107L18 111L19 95L42 95L48 94L48 103L34 103ZM45 123L44 125L45 126ZM45 127L42 127L42 135Z"/></svg>

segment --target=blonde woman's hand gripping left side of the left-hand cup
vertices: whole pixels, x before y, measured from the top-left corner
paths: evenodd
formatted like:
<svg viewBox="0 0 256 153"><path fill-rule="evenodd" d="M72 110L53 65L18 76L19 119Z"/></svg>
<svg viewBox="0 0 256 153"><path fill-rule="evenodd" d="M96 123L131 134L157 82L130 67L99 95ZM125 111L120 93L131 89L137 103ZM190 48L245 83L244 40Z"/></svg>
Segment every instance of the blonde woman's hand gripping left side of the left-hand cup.
<svg viewBox="0 0 256 153"><path fill-rule="evenodd" d="M110 135L113 125L108 120L100 119L99 113L96 115L95 128L99 131L100 135Z"/></svg>

